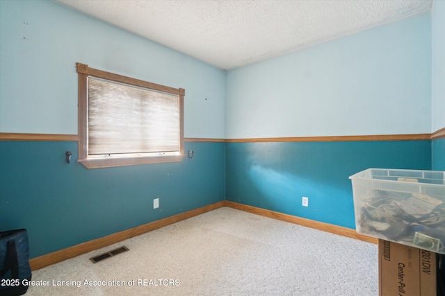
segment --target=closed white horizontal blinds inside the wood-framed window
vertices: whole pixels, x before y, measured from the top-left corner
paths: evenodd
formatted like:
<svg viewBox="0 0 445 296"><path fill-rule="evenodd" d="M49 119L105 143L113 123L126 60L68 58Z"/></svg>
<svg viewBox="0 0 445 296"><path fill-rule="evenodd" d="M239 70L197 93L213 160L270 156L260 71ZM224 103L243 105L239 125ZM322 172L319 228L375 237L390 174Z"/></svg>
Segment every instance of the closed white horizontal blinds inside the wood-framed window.
<svg viewBox="0 0 445 296"><path fill-rule="evenodd" d="M88 155L179 149L179 96L88 77Z"/></svg>

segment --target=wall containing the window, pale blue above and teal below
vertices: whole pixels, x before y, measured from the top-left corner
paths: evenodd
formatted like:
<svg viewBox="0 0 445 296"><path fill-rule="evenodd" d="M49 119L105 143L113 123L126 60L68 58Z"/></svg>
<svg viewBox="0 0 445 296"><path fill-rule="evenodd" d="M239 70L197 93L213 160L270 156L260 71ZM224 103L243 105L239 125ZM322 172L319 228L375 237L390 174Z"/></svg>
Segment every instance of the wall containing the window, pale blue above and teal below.
<svg viewBox="0 0 445 296"><path fill-rule="evenodd" d="M224 137L221 69L55 1L0 1L0 31L0 132L77 134L82 62L186 89L184 136ZM223 200L224 143L188 149L178 163L88 170L76 142L3 141L0 231L29 229L35 257Z"/></svg>

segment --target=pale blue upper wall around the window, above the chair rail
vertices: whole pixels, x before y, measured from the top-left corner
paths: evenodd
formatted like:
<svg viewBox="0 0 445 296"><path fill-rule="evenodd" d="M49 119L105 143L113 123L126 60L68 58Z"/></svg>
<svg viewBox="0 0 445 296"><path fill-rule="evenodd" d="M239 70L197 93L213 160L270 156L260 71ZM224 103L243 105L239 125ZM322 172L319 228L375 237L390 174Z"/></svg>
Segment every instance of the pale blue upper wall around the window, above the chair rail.
<svg viewBox="0 0 445 296"><path fill-rule="evenodd" d="M0 1L0 30L0 132L77 134L81 62L186 89L184 136L224 137L221 69L53 1Z"/></svg>

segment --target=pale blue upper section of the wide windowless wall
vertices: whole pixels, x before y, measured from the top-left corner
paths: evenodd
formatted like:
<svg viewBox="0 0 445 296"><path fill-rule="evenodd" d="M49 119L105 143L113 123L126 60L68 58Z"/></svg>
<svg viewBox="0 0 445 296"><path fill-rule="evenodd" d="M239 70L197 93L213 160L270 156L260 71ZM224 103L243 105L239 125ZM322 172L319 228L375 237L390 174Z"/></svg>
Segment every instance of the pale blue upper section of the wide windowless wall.
<svg viewBox="0 0 445 296"><path fill-rule="evenodd" d="M228 71L227 139L431 132L430 12Z"/></svg>

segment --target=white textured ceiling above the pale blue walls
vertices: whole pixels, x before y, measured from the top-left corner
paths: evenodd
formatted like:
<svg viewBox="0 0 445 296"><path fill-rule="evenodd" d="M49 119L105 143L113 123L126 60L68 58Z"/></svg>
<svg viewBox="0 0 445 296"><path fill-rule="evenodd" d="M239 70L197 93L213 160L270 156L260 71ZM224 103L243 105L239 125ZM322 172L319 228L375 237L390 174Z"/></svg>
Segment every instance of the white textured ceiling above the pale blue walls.
<svg viewBox="0 0 445 296"><path fill-rule="evenodd" d="M221 69L430 10L432 0L56 0Z"/></svg>

